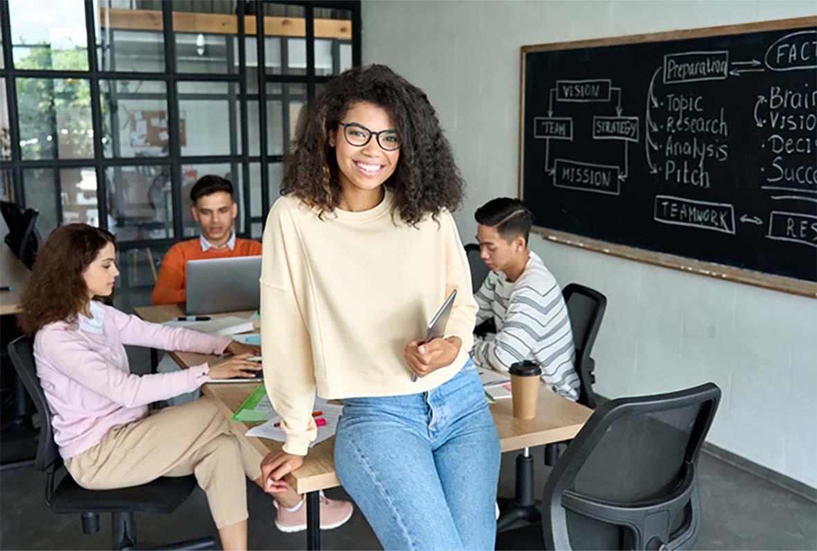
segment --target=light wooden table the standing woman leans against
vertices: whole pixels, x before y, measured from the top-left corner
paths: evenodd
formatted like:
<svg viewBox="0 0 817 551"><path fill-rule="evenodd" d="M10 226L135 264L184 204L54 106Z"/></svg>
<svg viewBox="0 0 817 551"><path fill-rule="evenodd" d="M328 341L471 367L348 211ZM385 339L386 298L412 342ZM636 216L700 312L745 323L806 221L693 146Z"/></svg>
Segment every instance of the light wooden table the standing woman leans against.
<svg viewBox="0 0 817 551"><path fill-rule="evenodd" d="M134 309L136 315L149 322L164 322L184 315L176 304L168 306L146 306ZM212 314L214 318L222 315L248 317L251 312ZM212 356L197 353L172 352L170 356L182 367L199 365L212 359ZM224 415L231 417L246 400L258 383L204 384L202 392L216 403ZM542 387L539 393L536 418L518 420L513 416L511 400L502 399L491 404L493 422L497 425L499 442L502 451L521 450L525 447L542 446L552 442L562 442L574 438L579 429L592 414L592 410L552 393ZM259 423L242 423L245 430ZM277 452L283 442L261 438L247 438L261 455ZM319 549L318 491L337 487L334 467L335 439L328 438L310 448L304 464L287 477L287 482L299 494L307 495L307 549Z"/></svg>

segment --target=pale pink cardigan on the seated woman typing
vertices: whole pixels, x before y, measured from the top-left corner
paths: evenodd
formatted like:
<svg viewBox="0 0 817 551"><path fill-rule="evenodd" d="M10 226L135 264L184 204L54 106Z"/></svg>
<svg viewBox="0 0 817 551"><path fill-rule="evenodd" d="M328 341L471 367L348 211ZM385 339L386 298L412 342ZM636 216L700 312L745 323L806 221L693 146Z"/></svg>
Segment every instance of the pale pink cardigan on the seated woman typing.
<svg viewBox="0 0 817 551"><path fill-rule="evenodd" d="M145 417L150 402L190 392L210 380L206 363L172 373L133 375L124 344L199 353L222 353L230 344L223 337L143 322L110 306L93 305L91 321L98 331L54 322L34 337L37 375L64 459L96 446L115 426Z"/></svg>

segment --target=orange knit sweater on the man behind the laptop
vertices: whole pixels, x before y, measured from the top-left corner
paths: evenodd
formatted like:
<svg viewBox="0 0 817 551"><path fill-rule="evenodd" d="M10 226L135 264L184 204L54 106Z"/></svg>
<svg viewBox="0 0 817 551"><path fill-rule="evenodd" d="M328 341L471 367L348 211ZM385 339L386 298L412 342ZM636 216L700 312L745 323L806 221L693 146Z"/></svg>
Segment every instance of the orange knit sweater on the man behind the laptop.
<svg viewBox="0 0 817 551"><path fill-rule="evenodd" d="M235 248L209 248L202 251L199 238L176 243L162 259L154 287L154 304L174 304L187 300L187 261L227 258L228 256L261 256L261 243L252 239L235 239Z"/></svg>

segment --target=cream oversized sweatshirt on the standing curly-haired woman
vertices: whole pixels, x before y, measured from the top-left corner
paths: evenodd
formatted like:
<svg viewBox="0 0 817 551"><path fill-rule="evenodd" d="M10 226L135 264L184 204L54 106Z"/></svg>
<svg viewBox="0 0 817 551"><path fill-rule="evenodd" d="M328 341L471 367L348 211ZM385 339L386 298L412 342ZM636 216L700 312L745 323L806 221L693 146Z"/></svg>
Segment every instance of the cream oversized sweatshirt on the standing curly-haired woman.
<svg viewBox="0 0 817 551"><path fill-rule="evenodd" d="M471 349L477 305L453 217L417 227L392 212L394 195L368 211L315 209L284 196L264 231L261 349L264 381L284 451L306 455L321 398L421 393L449 380ZM417 381L403 349L457 289L446 335L462 339L457 359Z"/></svg>

